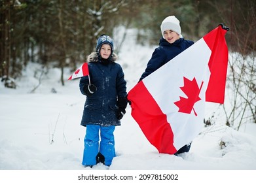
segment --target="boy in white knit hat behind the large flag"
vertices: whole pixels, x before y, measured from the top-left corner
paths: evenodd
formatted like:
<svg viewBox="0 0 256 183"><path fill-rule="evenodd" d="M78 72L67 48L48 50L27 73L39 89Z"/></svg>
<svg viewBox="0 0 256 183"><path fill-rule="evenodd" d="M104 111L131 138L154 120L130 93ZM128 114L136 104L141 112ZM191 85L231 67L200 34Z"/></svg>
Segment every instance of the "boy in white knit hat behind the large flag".
<svg viewBox="0 0 256 183"><path fill-rule="evenodd" d="M160 39L159 46L153 52L151 59L147 63L147 68L141 75L141 78L139 78L139 81L194 44L192 41L183 39L179 20L177 20L175 16L166 17L162 21L160 29L162 38ZM190 148L191 143L179 149L176 155L183 152L189 152Z"/></svg>

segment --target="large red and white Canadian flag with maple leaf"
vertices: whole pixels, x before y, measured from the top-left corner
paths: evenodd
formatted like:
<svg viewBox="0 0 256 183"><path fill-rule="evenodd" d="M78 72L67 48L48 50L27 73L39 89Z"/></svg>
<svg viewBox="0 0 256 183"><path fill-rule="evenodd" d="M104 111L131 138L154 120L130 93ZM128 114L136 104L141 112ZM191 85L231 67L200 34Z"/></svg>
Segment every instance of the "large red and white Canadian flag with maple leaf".
<svg viewBox="0 0 256 183"><path fill-rule="evenodd" d="M132 116L160 153L175 154L204 126L207 101L223 103L228 48L221 25L128 92Z"/></svg>

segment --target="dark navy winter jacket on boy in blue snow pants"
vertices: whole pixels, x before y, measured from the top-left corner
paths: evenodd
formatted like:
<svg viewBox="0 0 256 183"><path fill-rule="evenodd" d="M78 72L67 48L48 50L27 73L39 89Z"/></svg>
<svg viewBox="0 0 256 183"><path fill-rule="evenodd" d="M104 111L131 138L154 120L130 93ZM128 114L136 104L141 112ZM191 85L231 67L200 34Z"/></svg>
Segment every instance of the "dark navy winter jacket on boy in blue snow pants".
<svg viewBox="0 0 256 183"><path fill-rule="evenodd" d="M101 63L96 52L88 56L90 83L97 90L92 95L87 95L84 88L89 84L88 76L81 78L79 88L86 95L81 125L120 125L116 115L119 109L118 100L125 99L127 93L124 73L119 63L115 63L116 59L117 55L113 54L109 63Z"/></svg>

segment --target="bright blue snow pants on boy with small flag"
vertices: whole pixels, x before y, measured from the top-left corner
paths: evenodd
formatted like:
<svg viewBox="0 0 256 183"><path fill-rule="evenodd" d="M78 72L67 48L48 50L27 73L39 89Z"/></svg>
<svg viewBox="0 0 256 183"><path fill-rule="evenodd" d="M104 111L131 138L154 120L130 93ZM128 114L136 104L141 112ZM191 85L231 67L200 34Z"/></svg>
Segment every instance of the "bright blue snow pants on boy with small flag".
<svg viewBox="0 0 256 183"><path fill-rule="evenodd" d="M96 156L99 152L105 157L105 165L111 165L112 160L115 157L114 131L115 126L113 125L108 127L103 127L101 125L86 125L82 165L96 165Z"/></svg>

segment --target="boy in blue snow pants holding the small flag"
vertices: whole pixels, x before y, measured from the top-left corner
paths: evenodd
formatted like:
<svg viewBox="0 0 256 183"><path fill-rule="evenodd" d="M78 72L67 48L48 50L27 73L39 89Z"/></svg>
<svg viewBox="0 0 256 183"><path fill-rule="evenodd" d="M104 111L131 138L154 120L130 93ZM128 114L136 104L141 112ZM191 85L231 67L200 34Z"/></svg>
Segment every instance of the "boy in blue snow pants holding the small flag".
<svg viewBox="0 0 256 183"><path fill-rule="evenodd" d="M82 165L103 163L110 166L115 157L115 126L126 113L126 80L117 55L113 52L113 40L101 35L96 52L87 58L90 76L80 80L80 90L86 95L81 125L86 127ZM99 136L100 132L100 136Z"/></svg>

